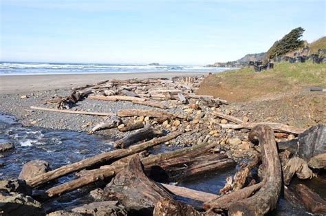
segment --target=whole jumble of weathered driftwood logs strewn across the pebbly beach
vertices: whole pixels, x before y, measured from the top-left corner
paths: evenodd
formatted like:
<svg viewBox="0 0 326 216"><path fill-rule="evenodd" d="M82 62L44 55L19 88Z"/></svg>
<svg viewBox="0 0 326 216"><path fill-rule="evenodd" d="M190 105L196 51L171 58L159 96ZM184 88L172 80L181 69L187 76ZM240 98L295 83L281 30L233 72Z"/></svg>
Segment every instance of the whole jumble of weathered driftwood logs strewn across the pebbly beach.
<svg viewBox="0 0 326 216"><path fill-rule="evenodd" d="M164 101L188 103L191 109L219 107L226 103L219 98L195 95L199 82L200 78L108 80L76 88L72 93L74 98L78 98L76 95L80 96L78 100L129 100L158 108L155 110L127 109L116 114L103 114L33 107L45 111L109 116L105 122L91 129L91 133L112 127L117 127L122 132L138 130L117 140L114 143L116 150L37 175L27 180L28 185L38 188L58 177L76 173L76 179L47 189L43 195L50 199L87 184L110 181L102 191L101 199L118 200L131 213L144 215L264 215L276 208L281 193L296 206L301 206L302 202L312 213L326 213L326 202L318 194L303 184L290 184L294 174L301 179L312 179L325 169L325 125L304 131L274 122L244 122L239 118L212 111L209 115L227 120L217 124L222 129L250 129L248 138L250 142L259 144L259 153L248 162L239 164L240 168L235 177L228 177L218 195L162 184L179 182L186 177L236 165L235 161L226 155L216 153L218 151L215 147L219 142L208 142L208 133L204 140L196 141L192 147L157 155L149 155L146 151L177 136L191 136L191 133L195 133L177 127L169 133L162 130L166 121L172 122L171 125L180 125L193 120L184 113L164 110L167 108ZM73 103L70 98L73 96L52 98L51 102L58 103L59 108L69 108L69 103ZM71 100L68 105L67 100ZM124 120L133 116L138 116L138 119L143 116L147 119L129 122ZM294 134L298 138L290 142L276 143L276 138L287 134ZM200 201L202 206L199 206L198 210L177 202L175 195Z"/></svg>

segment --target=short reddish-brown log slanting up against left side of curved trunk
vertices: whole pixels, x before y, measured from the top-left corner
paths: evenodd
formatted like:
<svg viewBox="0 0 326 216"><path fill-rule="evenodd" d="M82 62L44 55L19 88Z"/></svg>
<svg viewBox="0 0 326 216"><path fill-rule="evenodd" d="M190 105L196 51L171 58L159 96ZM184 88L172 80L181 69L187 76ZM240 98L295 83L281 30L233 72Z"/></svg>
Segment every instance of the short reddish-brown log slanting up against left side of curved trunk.
<svg viewBox="0 0 326 216"><path fill-rule="evenodd" d="M248 186L246 188L242 188L238 191L233 191L221 197L217 197L215 199L206 201L203 205L204 209L208 210L210 208L213 209L224 209L228 210L232 204L237 203L243 199L246 199L252 195L255 191L259 190L263 186L263 182L259 182L258 184L254 184L252 186Z"/></svg>

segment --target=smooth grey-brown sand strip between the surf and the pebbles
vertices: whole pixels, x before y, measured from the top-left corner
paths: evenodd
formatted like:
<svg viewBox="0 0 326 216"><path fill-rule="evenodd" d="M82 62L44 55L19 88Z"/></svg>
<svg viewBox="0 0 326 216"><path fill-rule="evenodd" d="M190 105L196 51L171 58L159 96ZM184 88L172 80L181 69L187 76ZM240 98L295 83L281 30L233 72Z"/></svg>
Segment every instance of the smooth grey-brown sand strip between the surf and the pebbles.
<svg viewBox="0 0 326 216"><path fill-rule="evenodd" d="M59 74L0 76L0 94L30 94L32 91L68 89L98 83L103 80L128 78L170 78L173 76L201 76L202 72L147 72L120 74Z"/></svg>

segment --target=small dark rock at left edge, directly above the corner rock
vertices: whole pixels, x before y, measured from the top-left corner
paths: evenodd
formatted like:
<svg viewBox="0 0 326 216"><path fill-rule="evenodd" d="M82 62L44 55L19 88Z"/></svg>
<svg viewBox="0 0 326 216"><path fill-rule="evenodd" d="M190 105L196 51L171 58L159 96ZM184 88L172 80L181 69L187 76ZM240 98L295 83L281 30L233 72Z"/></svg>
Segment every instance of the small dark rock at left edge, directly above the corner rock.
<svg viewBox="0 0 326 216"><path fill-rule="evenodd" d="M32 188L24 180L0 180L0 191L32 195Z"/></svg>

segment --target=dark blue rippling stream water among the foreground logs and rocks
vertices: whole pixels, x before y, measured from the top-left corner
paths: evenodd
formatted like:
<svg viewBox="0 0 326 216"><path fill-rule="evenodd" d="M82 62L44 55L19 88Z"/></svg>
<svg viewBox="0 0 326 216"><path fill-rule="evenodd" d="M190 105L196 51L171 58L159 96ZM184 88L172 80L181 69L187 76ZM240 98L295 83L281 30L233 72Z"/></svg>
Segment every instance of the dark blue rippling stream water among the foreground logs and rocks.
<svg viewBox="0 0 326 216"><path fill-rule="evenodd" d="M46 160L52 169L59 166L89 158L98 153L111 151L112 142L107 138L78 133L75 131L50 130L38 127L23 127L11 116L0 114L0 142L13 142L15 149L3 153L4 158L0 160L4 163L0 167L1 178L17 178L23 164L30 160ZM172 151L164 144L151 149L151 153L161 153L162 151ZM83 153L82 153L83 151ZM192 188L208 193L217 193L225 184L226 177L234 175L235 169L228 171L216 171L199 177L191 177L179 182L179 186ZM43 186L41 189L49 188L56 184L67 182L74 178L73 174L61 177L56 182ZM92 188L105 186L102 183L86 186L71 193L61 195L43 204L47 211L71 208L79 204L92 202L88 193ZM200 206L200 202L177 197L182 202ZM272 215L307 215L304 210L293 208L285 199L280 198L277 209Z"/></svg>

